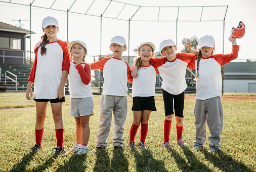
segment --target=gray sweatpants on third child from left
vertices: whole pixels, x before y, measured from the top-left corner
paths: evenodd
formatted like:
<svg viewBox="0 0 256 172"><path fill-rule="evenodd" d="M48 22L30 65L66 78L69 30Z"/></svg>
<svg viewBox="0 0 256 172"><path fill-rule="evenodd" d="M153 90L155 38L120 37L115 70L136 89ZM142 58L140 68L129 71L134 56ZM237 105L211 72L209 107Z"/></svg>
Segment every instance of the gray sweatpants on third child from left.
<svg viewBox="0 0 256 172"><path fill-rule="evenodd" d="M107 147L107 138L110 132L114 115L114 137L113 146L123 146L123 124L127 115L127 98L126 96L102 95L100 102L100 126L97 134L97 147Z"/></svg>

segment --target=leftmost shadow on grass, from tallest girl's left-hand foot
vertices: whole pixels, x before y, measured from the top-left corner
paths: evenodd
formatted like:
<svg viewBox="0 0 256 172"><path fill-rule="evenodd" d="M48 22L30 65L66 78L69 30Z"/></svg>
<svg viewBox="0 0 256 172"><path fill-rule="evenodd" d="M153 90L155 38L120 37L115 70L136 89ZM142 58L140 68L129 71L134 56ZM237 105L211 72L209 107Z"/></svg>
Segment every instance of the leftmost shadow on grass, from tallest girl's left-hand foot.
<svg viewBox="0 0 256 172"><path fill-rule="evenodd" d="M31 151L24 155L23 159L17 163L16 165L13 166L11 169L12 172L16 171L25 171L26 166L29 165L30 161L33 159L34 155L36 154L36 151Z"/></svg>

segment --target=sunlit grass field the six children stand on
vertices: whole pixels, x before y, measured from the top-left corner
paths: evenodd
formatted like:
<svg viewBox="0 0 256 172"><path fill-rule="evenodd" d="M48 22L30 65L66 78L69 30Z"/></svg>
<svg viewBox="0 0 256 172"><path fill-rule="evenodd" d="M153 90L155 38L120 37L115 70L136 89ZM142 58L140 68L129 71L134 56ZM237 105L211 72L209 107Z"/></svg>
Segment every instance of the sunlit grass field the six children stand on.
<svg viewBox="0 0 256 172"><path fill-rule="evenodd" d="M229 96L256 96L256 94L230 93ZM190 95L186 95L190 96ZM194 96L194 95L193 95ZM114 150L112 145L113 123L108 137L108 147L92 151L96 146L99 128L99 103L101 95L94 95L95 115L90 118L90 152L76 156L65 153L59 156L56 147L55 127L48 105L43 149L30 152L34 146L35 103L25 99L25 93L0 93L0 171L256 171L256 100L223 100L224 126L221 151L207 153L209 140L202 151L194 151L195 100L185 100L183 139L187 147L176 143L176 121L172 123L170 144L174 150L161 147L163 142L164 108L161 94L155 98L157 111L149 119L149 132L144 151L131 151L128 147L129 130L133 120L132 98L127 96L128 114L125 121L124 148ZM63 104L64 148L75 144L75 121L69 116L69 95ZM140 128L136 136L139 143ZM207 136L209 131L207 128Z"/></svg>

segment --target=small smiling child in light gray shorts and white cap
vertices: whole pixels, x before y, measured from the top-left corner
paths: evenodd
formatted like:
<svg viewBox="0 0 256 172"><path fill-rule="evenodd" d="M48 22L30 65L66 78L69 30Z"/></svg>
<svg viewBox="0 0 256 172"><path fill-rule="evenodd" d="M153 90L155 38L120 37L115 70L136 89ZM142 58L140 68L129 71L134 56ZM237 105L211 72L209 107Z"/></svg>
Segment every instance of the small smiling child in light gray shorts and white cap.
<svg viewBox="0 0 256 172"><path fill-rule="evenodd" d="M76 122L76 144L70 151L81 155L89 151L89 119L94 110L93 92L90 84L91 67L89 63L86 63L88 49L85 42L74 40L68 46L73 58L73 61L70 62L68 80L70 116L74 116Z"/></svg>

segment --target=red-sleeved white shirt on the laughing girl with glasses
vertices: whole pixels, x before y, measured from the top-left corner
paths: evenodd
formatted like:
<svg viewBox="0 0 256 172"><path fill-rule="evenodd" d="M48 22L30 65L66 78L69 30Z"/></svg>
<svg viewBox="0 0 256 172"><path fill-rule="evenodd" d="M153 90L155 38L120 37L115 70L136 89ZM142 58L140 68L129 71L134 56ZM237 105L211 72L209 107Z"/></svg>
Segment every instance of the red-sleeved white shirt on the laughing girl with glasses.
<svg viewBox="0 0 256 172"><path fill-rule="evenodd" d="M135 65L132 66L131 71ZM128 81L133 83L132 97L155 96L156 74L159 74L154 65L142 66L138 69L138 77L129 76Z"/></svg>

